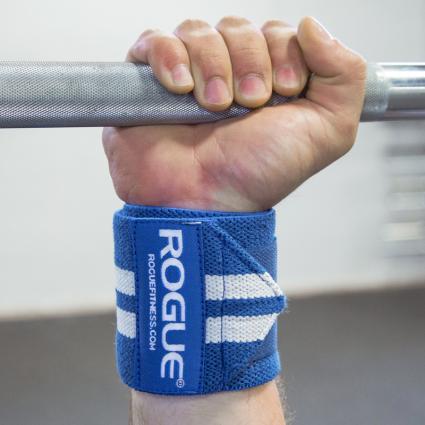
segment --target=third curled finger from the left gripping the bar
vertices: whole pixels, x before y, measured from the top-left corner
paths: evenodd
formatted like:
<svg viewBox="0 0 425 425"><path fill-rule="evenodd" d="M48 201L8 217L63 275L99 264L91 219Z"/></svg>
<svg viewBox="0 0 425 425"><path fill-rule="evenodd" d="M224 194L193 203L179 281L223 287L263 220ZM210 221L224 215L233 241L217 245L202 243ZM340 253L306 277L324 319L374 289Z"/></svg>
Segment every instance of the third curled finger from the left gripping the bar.
<svg viewBox="0 0 425 425"><path fill-rule="evenodd" d="M244 18L223 18L217 25L230 54L235 100L255 108L270 98L272 64L260 30Z"/></svg>

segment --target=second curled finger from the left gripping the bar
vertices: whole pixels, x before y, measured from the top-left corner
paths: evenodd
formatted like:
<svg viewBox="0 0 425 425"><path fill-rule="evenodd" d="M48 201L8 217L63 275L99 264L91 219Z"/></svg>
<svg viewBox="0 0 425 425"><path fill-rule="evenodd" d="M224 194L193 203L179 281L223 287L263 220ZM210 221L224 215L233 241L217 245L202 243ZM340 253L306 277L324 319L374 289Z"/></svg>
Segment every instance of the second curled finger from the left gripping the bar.
<svg viewBox="0 0 425 425"><path fill-rule="evenodd" d="M233 101L232 63L223 37L199 20L184 21L175 34L190 57L198 102L210 110L228 108Z"/></svg>

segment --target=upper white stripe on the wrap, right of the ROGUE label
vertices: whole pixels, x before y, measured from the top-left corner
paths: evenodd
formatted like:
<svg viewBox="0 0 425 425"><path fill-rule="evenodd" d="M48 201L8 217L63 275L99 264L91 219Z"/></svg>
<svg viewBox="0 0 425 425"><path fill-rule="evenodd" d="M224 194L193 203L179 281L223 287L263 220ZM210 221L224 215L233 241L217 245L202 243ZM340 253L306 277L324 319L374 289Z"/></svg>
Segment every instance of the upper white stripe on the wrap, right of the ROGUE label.
<svg viewBox="0 0 425 425"><path fill-rule="evenodd" d="M269 273L205 275L207 300L250 299L282 295Z"/></svg>

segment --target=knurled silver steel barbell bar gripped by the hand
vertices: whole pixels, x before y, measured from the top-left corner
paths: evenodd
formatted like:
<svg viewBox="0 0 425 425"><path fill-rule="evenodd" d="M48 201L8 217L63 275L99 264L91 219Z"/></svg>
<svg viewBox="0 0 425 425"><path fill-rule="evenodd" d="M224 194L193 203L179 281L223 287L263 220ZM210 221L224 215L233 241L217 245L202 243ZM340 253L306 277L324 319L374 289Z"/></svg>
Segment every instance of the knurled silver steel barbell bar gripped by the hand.
<svg viewBox="0 0 425 425"><path fill-rule="evenodd" d="M296 100L276 93L275 106ZM0 128L195 124L245 115L168 92L148 65L0 62ZM425 63L369 64L362 121L425 119Z"/></svg>

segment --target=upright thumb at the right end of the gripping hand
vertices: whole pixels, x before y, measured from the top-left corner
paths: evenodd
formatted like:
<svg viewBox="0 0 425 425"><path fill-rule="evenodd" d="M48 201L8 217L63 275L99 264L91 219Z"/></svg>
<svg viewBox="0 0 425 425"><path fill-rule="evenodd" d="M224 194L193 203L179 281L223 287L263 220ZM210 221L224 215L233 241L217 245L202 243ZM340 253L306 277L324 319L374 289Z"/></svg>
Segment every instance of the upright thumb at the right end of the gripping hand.
<svg viewBox="0 0 425 425"><path fill-rule="evenodd" d="M297 38L312 72L306 98L336 116L360 118L366 82L365 60L311 17L300 22Z"/></svg>

